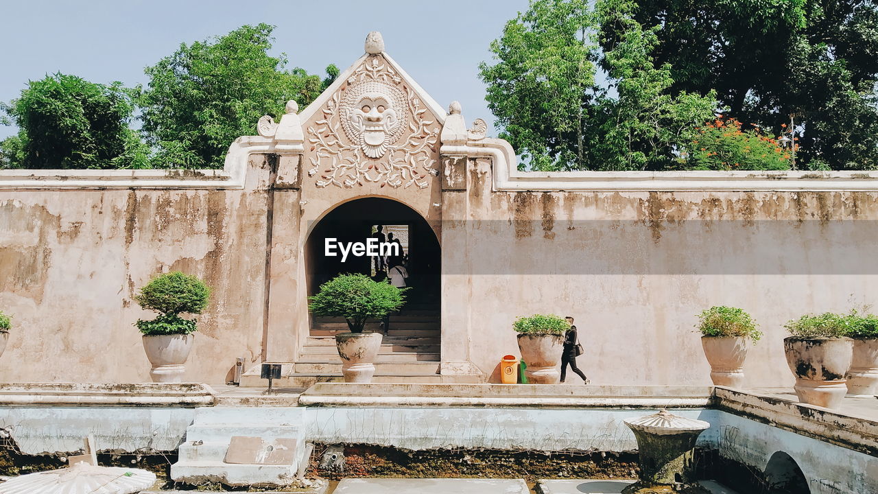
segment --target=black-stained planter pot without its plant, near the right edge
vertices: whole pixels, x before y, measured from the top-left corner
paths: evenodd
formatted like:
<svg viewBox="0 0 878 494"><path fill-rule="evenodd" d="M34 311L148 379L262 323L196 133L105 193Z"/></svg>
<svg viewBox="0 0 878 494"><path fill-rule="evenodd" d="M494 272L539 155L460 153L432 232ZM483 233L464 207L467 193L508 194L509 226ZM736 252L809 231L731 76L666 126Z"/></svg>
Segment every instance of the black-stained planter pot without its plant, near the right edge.
<svg viewBox="0 0 878 494"><path fill-rule="evenodd" d="M845 375L851 367L851 338L784 338L795 394L802 403L836 408L845 398Z"/></svg>

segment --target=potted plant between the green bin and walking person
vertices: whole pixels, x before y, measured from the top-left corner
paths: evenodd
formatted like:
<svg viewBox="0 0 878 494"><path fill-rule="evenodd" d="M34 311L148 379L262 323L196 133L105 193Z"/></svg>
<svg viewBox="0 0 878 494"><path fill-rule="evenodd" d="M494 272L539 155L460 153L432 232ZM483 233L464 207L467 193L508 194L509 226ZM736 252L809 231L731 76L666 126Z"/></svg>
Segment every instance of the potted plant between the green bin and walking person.
<svg viewBox="0 0 878 494"><path fill-rule="evenodd" d="M557 384L558 362L564 350L567 322L559 316L535 314L519 317L512 324L518 333L518 349L528 365L524 374L534 384Z"/></svg>

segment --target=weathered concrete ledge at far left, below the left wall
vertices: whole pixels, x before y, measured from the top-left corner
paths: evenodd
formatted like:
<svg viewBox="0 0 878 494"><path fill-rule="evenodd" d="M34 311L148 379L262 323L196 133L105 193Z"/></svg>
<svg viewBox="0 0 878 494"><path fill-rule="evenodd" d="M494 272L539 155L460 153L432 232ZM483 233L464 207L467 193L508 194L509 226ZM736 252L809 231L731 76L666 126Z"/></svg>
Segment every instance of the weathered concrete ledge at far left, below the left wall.
<svg viewBox="0 0 878 494"><path fill-rule="evenodd" d="M0 384L0 406L210 406L215 393L206 384L148 382L78 384L21 382Z"/></svg>

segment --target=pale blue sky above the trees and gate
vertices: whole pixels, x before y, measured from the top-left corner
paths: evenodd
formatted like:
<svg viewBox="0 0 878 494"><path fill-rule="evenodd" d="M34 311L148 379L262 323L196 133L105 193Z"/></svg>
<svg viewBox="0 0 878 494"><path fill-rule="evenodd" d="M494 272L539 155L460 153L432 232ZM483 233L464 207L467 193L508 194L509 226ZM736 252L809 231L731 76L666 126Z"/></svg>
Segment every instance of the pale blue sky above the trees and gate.
<svg viewBox="0 0 878 494"><path fill-rule="evenodd" d="M96 83L147 84L143 69L180 43L245 25L277 25L274 54L289 67L325 76L363 54L380 31L385 49L443 107L457 99L468 122L493 124L479 80L488 45L527 0L232 2L115 0L0 2L0 101L18 98L28 80L57 71ZM255 122L254 126L255 126ZM493 126L492 126L493 127ZM0 139L16 133L0 126ZM255 127L254 127L255 133ZM496 134L492 128L492 134Z"/></svg>

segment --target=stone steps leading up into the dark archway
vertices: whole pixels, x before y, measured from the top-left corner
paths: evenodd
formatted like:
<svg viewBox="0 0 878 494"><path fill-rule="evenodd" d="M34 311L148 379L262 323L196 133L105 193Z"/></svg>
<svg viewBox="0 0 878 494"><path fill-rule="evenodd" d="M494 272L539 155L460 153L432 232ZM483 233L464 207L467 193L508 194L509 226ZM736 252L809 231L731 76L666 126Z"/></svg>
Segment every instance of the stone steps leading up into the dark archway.
<svg viewBox="0 0 878 494"><path fill-rule="evenodd" d="M440 362L440 318L435 303L414 302L390 318L372 382L442 382ZM365 331L383 332L380 321L366 323ZM314 317L310 336L299 360L284 364L278 388L306 388L316 382L342 382L342 360L335 349L335 335L348 331L342 317ZM255 375L254 375L255 374ZM258 369L241 379L241 386L265 386Z"/></svg>

